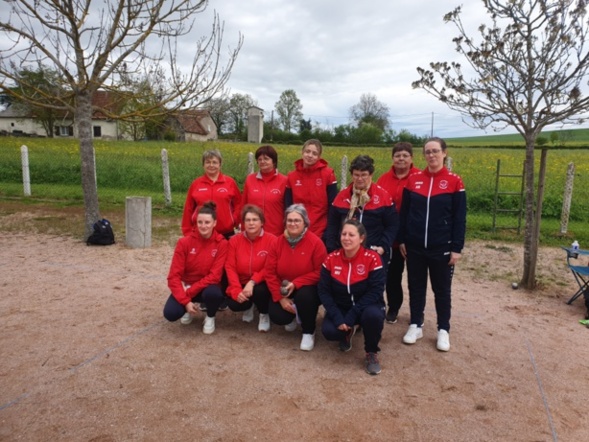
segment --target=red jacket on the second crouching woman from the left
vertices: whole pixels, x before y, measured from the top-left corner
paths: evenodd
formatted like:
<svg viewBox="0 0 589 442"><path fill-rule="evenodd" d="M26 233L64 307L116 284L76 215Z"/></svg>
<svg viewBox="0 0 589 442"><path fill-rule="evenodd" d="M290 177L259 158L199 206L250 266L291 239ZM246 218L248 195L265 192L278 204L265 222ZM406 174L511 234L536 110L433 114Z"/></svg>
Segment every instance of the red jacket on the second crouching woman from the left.
<svg viewBox="0 0 589 442"><path fill-rule="evenodd" d="M266 258L270 250L275 248L275 244L276 237L266 231L262 231L253 241L245 232L231 237L225 262L229 296L236 300L248 281L253 280L259 284L266 280Z"/></svg>

